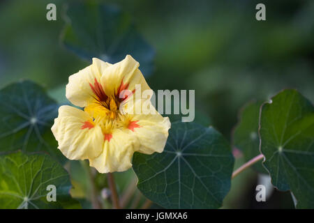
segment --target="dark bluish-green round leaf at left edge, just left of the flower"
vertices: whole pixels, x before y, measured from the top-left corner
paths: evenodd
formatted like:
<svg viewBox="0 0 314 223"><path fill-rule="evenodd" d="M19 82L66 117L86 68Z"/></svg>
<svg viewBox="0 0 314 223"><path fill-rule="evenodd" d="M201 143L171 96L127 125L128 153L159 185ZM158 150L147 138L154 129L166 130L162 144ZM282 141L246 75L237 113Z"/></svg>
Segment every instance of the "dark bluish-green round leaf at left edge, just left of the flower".
<svg viewBox="0 0 314 223"><path fill-rule="evenodd" d="M0 153L47 151L63 160L50 130L58 107L41 86L30 81L1 89Z"/></svg>

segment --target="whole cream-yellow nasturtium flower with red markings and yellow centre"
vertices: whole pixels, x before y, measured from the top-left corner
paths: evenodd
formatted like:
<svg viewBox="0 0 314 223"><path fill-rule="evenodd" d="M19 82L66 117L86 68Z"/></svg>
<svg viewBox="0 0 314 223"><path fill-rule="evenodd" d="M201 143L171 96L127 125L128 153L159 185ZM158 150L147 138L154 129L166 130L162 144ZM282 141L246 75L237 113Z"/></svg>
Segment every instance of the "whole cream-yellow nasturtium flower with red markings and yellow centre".
<svg viewBox="0 0 314 223"><path fill-rule="evenodd" d="M129 55L114 64L94 58L69 77L66 98L84 109L59 108L52 132L63 155L88 159L91 167L107 173L129 169L135 151L163 152L170 121L151 105L151 95L135 97L151 91L139 66ZM149 112L135 112L137 105L145 105Z"/></svg>

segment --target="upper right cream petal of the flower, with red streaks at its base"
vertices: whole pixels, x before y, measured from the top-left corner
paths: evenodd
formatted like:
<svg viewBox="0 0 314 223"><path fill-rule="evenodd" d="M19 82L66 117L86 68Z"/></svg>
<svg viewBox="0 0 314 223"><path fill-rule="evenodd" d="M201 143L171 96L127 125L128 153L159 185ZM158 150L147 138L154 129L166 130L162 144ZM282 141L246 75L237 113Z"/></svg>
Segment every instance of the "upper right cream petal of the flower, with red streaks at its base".
<svg viewBox="0 0 314 223"><path fill-rule="evenodd" d="M119 63L114 63L112 66L105 68L105 72L101 77L101 84L105 88L105 93L114 95L118 92L120 86L126 87L126 85L128 85L128 91L132 92L135 90L135 84L140 86L141 91L149 89L142 72L138 69L139 66L140 63L135 61L132 56L127 55Z"/></svg>

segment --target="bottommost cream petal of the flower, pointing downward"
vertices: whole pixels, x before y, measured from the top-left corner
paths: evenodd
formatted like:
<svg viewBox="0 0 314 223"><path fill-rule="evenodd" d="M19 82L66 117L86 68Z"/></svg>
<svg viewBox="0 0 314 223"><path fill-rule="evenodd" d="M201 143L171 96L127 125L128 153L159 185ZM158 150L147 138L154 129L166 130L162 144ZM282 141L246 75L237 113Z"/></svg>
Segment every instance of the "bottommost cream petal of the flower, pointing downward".
<svg viewBox="0 0 314 223"><path fill-rule="evenodd" d="M114 130L110 141L105 140L103 153L94 159L89 159L89 165L103 174L126 171L132 167L132 156L138 147L136 137L126 131Z"/></svg>

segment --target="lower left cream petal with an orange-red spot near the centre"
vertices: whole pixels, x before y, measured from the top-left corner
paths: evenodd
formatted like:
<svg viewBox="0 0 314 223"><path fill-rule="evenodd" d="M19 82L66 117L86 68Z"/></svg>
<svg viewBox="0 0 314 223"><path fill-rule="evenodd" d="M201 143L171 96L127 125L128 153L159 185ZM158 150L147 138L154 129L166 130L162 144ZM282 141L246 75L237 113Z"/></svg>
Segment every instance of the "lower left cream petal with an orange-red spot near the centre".
<svg viewBox="0 0 314 223"><path fill-rule="evenodd" d="M51 130L58 148L70 160L94 158L103 151L104 136L100 126L80 109L61 106Z"/></svg>

